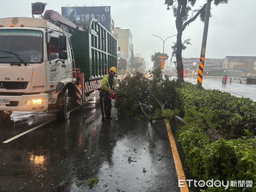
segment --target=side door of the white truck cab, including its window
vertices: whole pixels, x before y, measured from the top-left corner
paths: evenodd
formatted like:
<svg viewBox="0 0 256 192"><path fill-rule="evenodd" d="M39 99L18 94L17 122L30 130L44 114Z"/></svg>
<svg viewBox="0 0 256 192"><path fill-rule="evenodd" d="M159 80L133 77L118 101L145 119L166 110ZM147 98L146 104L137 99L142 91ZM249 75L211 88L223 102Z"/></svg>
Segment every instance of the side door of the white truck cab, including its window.
<svg viewBox="0 0 256 192"><path fill-rule="evenodd" d="M47 42L47 90L55 90L58 82L65 78L67 64L62 63L58 58L58 32L46 33ZM65 62L65 61L64 61ZM54 85L54 86L53 86Z"/></svg>

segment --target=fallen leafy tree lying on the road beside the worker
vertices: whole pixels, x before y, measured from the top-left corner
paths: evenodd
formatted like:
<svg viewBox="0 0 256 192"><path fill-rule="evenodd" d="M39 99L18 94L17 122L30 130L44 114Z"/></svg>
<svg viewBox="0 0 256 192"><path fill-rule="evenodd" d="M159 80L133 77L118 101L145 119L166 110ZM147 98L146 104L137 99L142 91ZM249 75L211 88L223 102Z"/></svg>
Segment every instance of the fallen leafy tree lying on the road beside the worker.
<svg viewBox="0 0 256 192"><path fill-rule="evenodd" d="M162 72L160 67L149 71L147 75L135 72L119 82L120 97L116 100L116 109L122 116L153 120L173 116L175 107L176 81Z"/></svg>

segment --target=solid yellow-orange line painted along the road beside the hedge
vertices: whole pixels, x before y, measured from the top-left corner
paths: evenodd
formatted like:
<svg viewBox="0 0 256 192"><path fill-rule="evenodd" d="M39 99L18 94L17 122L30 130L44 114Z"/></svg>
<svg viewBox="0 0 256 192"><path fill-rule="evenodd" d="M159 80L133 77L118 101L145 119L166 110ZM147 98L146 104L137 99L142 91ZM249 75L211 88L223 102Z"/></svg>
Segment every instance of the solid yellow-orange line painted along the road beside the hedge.
<svg viewBox="0 0 256 192"><path fill-rule="evenodd" d="M185 186L180 187L180 192L189 192L189 188L188 188L188 185L186 183L186 177L185 177L185 174L184 174L184 171L183 171L183 168L182 168L182 164L181 164L181 161L180 161L180 155L179 155L179 152L177 150L175 139L174 139L173 134L172 134L171 126L170 126L168 120L165 119L165 122L166 122L166 129L167 129L167 132L168 132L168 136L169 136L169 140L170 140L170 144L171 144L171 148L172 148L172 156L173 156L173 159L174 159L178 179L185 180L184 181Z"/></svg>

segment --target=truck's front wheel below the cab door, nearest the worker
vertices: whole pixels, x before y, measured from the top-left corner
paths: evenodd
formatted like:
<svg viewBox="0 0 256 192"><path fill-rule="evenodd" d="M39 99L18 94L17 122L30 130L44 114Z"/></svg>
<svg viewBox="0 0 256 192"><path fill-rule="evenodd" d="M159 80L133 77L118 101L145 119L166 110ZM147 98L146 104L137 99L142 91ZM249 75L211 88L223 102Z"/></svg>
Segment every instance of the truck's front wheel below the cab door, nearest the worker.
<svg viewBox="0 0 256 192"><path fill-rule="evenodd" d="M68 88L60 94L59 111L56 116L59 121L67 121L70 116L72 96Z"/></svg>

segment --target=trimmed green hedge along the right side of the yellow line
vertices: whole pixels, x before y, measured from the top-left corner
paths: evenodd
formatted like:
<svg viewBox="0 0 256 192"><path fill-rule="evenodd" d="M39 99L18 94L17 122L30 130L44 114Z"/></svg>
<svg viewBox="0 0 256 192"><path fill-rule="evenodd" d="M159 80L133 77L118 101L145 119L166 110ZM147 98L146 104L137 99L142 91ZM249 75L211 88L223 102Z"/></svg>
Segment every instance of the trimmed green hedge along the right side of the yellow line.
<svg viewBox="0 0 256 192"><path fill-rule="evenodd" d="M192 175L198 180L253 180L253 188L228 190L256 191L256 102L185 82L176 89L176 108L186 122L177 136ZM207 129L223 139L212 141Z"/></svg>

